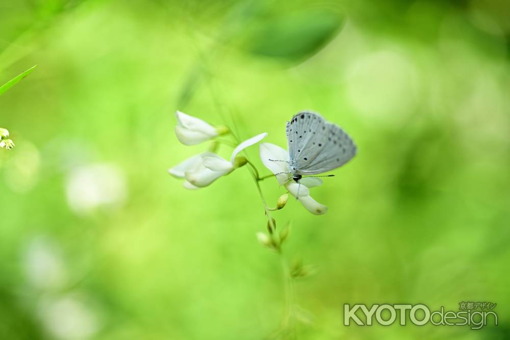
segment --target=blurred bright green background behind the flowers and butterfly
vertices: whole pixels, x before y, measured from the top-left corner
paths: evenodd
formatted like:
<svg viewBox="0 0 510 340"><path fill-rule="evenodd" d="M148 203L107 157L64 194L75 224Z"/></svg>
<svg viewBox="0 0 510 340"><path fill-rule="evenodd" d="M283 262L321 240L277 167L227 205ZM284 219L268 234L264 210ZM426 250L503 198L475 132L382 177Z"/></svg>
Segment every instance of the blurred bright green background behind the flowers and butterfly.
<svg viewBox="0 0 510 340"><path fill-rule="evenodd" d="M179 109L286 145L320 112L356 158L294 199L299 339L510 338L510 3L0 1L0 338L263 339L284 305L246 169L187 191ZM248 150L262 174L257 147ZM222 147L228 156L231 149ZM284 193L262 182L270 205ZM497 303L497 327L343 326L344 303Z"/></svg>

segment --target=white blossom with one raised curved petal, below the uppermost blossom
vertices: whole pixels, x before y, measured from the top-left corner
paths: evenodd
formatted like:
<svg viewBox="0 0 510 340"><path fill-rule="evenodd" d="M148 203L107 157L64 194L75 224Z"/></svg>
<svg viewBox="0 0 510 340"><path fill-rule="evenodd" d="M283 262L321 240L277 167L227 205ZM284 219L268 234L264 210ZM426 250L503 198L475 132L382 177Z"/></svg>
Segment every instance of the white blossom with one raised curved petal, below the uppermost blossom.
<svg viewBox="0 0 510 340"><path fill-rule="evenodd" d="M236 158L238 153L248 146L260 142L266 136L267 133L263 133L239 144L232 152L230 162L215 153L203 152L168 169L168 172L177 178L186 178L183 185L186 189L207 187L219 177L246 164L245 158Z"/></svg>

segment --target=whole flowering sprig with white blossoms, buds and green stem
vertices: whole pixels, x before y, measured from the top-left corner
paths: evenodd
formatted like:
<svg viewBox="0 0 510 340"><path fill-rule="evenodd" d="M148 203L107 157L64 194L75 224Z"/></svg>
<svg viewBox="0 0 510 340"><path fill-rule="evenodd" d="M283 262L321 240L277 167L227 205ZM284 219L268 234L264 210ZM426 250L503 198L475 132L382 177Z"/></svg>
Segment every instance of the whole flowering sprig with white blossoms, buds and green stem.
<svg viewBox="0 0 510 340"><path fill-rule="evenodd" d="M322 180L316 177L302 177L299 181L294 180L291 175L292 171L289 169L289 153L285 149L270 143L260 143L259 146L261 161L264 166L271 171L270 175L261 177L256 166L249 162L246 157L239 155L239 153L245 148L261 142L262 139L267 136L267 133L259 134L240 143L238 141L237 146L232 144L231 146L234 150L232 151L230 160L225 160L215 152L220 144L231 144L222 139L216 139L221 135L229 133L226 127L212 126L201 119L189 116L180 111L177 111L175 115L177 118L175 135L184 145L196 145L213 140L211 147L207 151L191 156L180 164L168 169L168 172L172 176L184 179L184 188L196 190L207 187L216 179L230 174L235 169L246 164L249 165L249 170L259 191L267 218L267 232L257 232L257 240L262 246L282 256L284 275L288 277L288 279L285 280L285 289L287 291L285 296L288 298L288 301L286 302L286 315L282 323L286 325L294 315L292 311L294 304L292 302L292 294L290 294L292 291L292 281L312 275L314 270L311 266L303 265L300 259L293 265L287 264L287 261L283 257L283 244L289 238L291 223L288 222L283 227L278 227L278 229L276 229L276 220L271 217L271 213L284 208L289 196L292 195L296 200L301 202L310 213L315 215L325 214L327 212L327 206L318 203L310 196L310 188L320 186ZM276 177L278 185L283 186L287 192L281 195L276 201L276 206L271 208L268 206L267 200L264 197L260 181L273 176Z"/></svg>

